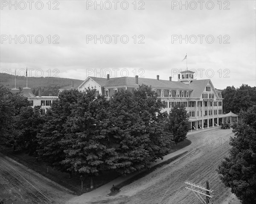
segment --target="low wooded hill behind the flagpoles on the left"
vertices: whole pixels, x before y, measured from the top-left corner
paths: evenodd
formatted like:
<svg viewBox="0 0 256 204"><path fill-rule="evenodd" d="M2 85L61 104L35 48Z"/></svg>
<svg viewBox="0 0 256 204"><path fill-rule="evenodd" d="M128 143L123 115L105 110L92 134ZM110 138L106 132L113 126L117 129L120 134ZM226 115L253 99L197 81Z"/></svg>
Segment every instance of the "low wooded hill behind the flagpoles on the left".
<svg viewBox="0 0 256 204"><path fill-rule="evenodd" d="M79 85L83 80L67 79L60 77L28 77L28 87L31 88L33 94L38 96L38 90L41 87L42 96L58 96L58 90L65 86L69 86L74 81L74 85ZM15 75L0 73L0 85L6 88L15 88ZM20 90L26 87L26 77L16 77L16 88Z"/></svg>

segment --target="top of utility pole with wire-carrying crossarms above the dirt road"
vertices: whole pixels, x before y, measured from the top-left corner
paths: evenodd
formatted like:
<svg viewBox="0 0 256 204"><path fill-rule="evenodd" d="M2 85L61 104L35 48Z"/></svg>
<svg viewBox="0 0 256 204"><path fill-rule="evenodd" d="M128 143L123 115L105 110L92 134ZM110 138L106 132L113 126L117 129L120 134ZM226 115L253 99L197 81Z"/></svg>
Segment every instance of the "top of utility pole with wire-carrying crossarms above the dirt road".
<svg viewBox="0 0 256 204"><path fill-rule="evenodd" d="M213 190L209 189L209 181L206 181L206 188L198 184L191 183L189 181L185 181L185 184L187 184L185 188L187 190L191 190L196 195L196 197L198 197L202 204L211 204L210 198L212 198L213 195L210 195L210 192L213 192ZM201 195L206 196L206 201L204 201Z"/></svg>

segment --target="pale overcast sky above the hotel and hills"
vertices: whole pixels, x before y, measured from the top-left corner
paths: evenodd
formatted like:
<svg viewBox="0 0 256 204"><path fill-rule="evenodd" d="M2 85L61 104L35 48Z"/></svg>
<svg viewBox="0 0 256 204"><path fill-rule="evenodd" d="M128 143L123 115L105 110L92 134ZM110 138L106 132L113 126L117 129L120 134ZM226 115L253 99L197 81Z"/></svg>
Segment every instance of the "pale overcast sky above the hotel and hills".
<svg viewBox="0 0 256 204"><path fill-rule="evenodd" d="M24 76L27 67L29 77L177 81L187 62L215 88L256 86L253 0L0 3L3 73Z"/></svg>

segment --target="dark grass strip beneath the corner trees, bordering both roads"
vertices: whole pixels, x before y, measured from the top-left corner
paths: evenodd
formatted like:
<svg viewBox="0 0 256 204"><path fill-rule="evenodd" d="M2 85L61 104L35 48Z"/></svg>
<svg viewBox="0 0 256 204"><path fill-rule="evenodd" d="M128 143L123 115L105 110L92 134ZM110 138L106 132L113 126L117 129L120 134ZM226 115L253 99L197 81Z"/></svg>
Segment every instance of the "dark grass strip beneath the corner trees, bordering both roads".
<svg viewBox="0 0 256 204"><path fill-rule="evenodd" d="M185 139L183 142L177 144L177 150L182 149L183 147L188 146L191 142L188 139ZM172 144L172 149L169 153L176 151L176 144ZM69 178L68 173L63 173L58 170L55 170L52 167L49 167L45 162L36 161L34 156L29 156L25 152L14 152L13 148L6 148L1 151L3 154L9 156L10 158L20 162L21 164L29 167L32 170L40 173L41 175L55 181L56 183L66 187L67 189L74 192L76 195L81 195L91 191L90 189L90 178L85 178L83 181L83 190L81 190L81 181L78 174L73 174L72 178ZM103 173L100 176L94 178L94 188L98 188L115 178L119 177L119 174L114 171L109 171Z"/></svg>

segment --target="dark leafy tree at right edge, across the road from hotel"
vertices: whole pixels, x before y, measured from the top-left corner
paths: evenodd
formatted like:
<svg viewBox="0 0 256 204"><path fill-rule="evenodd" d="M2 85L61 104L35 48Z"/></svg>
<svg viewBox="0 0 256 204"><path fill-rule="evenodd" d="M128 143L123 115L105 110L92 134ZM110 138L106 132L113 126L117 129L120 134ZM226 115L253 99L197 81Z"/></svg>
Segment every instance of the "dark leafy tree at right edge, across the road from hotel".
<svg viewBox="0 0 256 204"><path fill-rule="evenodd" d="M218 167L221 181L242 204L256 203L256 105L241 111L242 120L233 125L230 156Z"/></svg>

